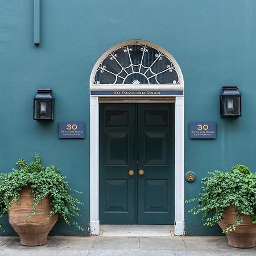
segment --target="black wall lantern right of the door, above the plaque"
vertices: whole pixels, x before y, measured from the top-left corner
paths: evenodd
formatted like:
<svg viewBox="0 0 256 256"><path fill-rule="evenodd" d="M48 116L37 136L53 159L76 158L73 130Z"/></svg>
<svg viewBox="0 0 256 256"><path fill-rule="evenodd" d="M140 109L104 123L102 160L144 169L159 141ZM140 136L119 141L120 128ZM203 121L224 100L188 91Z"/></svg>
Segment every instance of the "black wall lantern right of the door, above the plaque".
<svg viewBox="0 0 256 256"><path fill-rule="evenodd" d="M220 95L221 117L241 117L241 93L237 86L223 86Z"/></svg>

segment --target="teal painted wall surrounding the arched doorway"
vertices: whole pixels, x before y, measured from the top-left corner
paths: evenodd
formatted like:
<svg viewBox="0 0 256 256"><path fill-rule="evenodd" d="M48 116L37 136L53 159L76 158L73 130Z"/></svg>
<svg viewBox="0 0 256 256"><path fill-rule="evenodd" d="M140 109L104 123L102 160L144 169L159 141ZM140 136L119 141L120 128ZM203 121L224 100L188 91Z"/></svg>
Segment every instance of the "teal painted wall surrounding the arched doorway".
<svg viewBox="0 0 256 256"><path fill-rule="evenodd" d="M0 171L38 152L60 168L82 192L79 222L89 225L89 76L94 63L118 42L143 39L159 44L179 63L185 82L185 197L196 196L208 171L237 163L255 170L256 97L254 0L43 0L41 44L33 44L33 1L0 0L1 137ZM242 92L242 117L221 119L221 86ZM37 88L51 88L55 121L32 119ZM188 139L189 121L217 122L217 139ZM60 140L59 121L84 121L84 140ZM217 235L200 216L185 212L187 235ZM9 234L12 234L11 229ZM63 222L52 234L77 234ZM84 234L88 234L84 232Z"/></svg>

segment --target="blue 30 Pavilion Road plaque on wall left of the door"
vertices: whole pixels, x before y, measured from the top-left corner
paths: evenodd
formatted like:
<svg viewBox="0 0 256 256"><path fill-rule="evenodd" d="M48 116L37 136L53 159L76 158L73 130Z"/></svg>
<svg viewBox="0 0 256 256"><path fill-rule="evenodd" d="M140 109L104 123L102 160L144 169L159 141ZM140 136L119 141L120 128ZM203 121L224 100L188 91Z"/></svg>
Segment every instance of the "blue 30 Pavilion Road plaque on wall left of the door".
<svg viewBox="0 0 256 256"><path fill-rule="evenodd" d="M59 122L59 138L84 139L84 122Z"/></svg>

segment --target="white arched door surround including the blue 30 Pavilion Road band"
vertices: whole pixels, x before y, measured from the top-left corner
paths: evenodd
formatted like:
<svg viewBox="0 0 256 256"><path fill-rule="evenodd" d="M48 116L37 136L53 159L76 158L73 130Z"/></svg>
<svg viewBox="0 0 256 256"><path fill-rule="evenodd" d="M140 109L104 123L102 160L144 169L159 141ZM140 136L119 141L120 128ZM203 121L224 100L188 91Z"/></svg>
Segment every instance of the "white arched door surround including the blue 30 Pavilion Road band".
<svg viewBox="0 0 256 256"><path fill-rule="evenodd" d="M131 84L112 83L112 84L97 84L94 80L95 74L100 69L104 69L102 61L107 57L112 57L113 52L121 47L127 46L147 46L152 47L163 53L171 61L168 71L176 72L178 80L172 80L166 84L160 83L158 80L151 84L142 84L136 81ZM129 48L128 48L129 50ZM129 55L130 56L130 55ZM113 56L114 57L114 56ZM169 65L168 65L169 66ZM133 70L134 71L134 70ZM105 72L105 69L104 69ZM170 71L171 72L171 71ZM127 72L129 73L129 72ZM153 74L154 75L154 74ZM100 234L99 220L99 97L111 96L106 94L106 91L112 92L117 90L125 91L167 91L168 96L175 98L175 235L182 236L184 234L184 80L179 64L170 53L162 47L154 43L142 40L130 40L119 43L108 51L106 51L93 67L90 76L90 233L92 235ZM120 95L123 97L123 95ZM134 95L132 95L134 96ZM160 95L161 97L163 95ZM115 95L113 97L118 97ZM129 96L127 96L129 97ZM147 97L147 96L141 96ZM158 97L157 95L154 97Z"/></svg>

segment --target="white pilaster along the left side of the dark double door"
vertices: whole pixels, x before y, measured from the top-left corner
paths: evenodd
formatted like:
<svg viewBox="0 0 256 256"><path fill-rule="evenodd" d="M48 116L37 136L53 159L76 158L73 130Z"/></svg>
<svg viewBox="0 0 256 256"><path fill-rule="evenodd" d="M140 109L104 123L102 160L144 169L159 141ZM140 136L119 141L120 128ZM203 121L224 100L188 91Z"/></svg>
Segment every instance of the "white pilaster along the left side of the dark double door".
<svg viewBox="0 0 256 256"><path fill-rule="evenodd" d="M98 97L90 97L90 234L100 234L98 219Z"/></svg>

